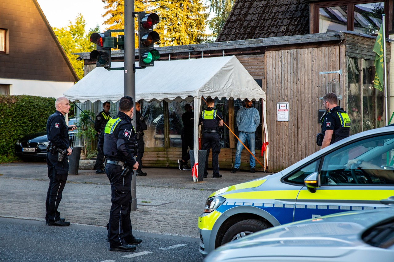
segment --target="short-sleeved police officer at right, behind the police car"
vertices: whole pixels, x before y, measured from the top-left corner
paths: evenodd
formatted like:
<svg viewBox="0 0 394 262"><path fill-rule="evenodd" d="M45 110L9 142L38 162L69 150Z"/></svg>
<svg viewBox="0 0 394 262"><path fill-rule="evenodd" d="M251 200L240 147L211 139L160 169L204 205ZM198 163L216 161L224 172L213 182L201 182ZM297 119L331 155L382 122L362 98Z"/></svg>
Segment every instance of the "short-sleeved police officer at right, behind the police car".
<svg viewBox="0 0 394 262"><path fill-rule="evenodd" d="M322 134L324 135L322 149L350 135L350 118L338 106L336 94L326 94L323 97L323 105L327 112L322 122Z"/></svg>

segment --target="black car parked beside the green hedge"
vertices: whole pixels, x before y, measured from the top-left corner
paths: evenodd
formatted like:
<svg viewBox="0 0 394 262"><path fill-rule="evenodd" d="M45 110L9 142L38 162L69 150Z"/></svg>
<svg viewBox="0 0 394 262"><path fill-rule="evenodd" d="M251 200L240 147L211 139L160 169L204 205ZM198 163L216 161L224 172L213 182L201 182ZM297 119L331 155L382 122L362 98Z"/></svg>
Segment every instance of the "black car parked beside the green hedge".
<svg viewBox="0 0 394 262"><path fill-rule="evenodd" d="M69 125L74 125L75 118L69 119ZM74 140L75 131L69 131L70 142ZM45 160L46 147L49 144L46 132L26 135L15 144L15 153L23 161Z"/></svg>

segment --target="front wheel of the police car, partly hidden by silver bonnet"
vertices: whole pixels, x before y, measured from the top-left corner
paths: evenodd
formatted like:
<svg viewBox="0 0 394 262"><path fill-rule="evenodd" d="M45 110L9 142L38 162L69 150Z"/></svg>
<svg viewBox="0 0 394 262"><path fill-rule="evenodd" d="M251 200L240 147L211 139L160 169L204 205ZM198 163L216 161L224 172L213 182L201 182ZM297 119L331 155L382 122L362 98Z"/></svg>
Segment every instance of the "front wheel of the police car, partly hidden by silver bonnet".
<svg viewBox="0 0 394 262"><path fill-rule="evenodd" d="M223 236L221 244L223 245L227 242L243 238L249 234L266 229L268 227L271 227L269 223L262 220L248 219L239 221L238 223L232 225L229 230L227 230Z"/></svg>

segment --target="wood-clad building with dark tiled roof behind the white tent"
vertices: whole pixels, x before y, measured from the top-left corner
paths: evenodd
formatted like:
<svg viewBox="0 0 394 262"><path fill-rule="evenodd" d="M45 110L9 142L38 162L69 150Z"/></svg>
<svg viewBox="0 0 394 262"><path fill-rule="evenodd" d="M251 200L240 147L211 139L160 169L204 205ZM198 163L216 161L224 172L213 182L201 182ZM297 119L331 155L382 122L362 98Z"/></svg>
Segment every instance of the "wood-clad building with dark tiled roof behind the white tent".
<svg viewBox="0 0 394 262"><path fill-rule="evenodd" d="M320 5L325 9L316 9L316 2L325 4ZM325 24L325 32L313 31L319 26L319 21L322 23L323 18L329 17L330 11L343 11L343 6L354 11L355 6L360 7L357 2L364 7L362 5L368 1L336 1L335 4L338 2L346 3L338 8L335 5L335 8L331 8L332 1L288 0L284 1L282 6L274 0L237 1L217 42L157 49L162 60L236 55L266 92L268 171L279 171L319 149L315 136L321 128L318 111L324 108L320 98L328 91L334 90L340 97L340 106L348 111L352 120L352 134L384 125L384 94L372 88L375 74L375 53L372 48L376 37L365 32L356 33L355 31L362 29L362 25L357 24L358 28L355 24L349 25L352 20L345 23L346 30L332 31L338 24L343 28L346 22L343 17L340 22L335 20L336 18L330 18L332 23L328 26ZM392 1L385 1L383 4L384 10L387 9L387 17L392 17ZM271 9L267 9L267 5L270 5ZM328 15L314 16L309 12L312 7L314 11ZM264 15L267 14L262 10L271 11L271 18L267 18L265 27ZM305 12L310 13L309 27L305 26ZM254 15L249 15L251 13ZM294 19L291 19L292 17ZM256 24L256 21L260 21L260 24ZM275 26L269 27L270 21L273 23L271 25ZM392 22L388 24L391 30ZM247 26L249 28L246 28ZM375 24L369 28L369 32L373 33L376 29L378 30L379 26ZM390 50L391 45L387 41L388 63ZM113 60L123 61L123 56L123 50L112 52ZM89 54L80 54L80 57L85 60L86 72L95 66L93 61L89 60ZM288 103L288 121L277 121L277 103L282 102ZM234 100L223 101L223 104L228 111L225 121L231 129L236 130L234 105L242 104ZM164 107L164 110L168 110L168 105ZM169 121L169 117L164 121ZM166 128L169 129L170 126L167 125ZM236 139L231 133L228 138L228 142L222 145L219 156L221 168L234 166ZM163 139L171 140L171 133ZM144 165L177 166L176 161L180 158L181 149L176 144L148 145L150 147L145 148ZM256 156L263 162L259 149L256 146ZM243 151L241 162L241 169L248 170L247 151ZM262 170L262 167L256 164L256 170Z"/></svg>

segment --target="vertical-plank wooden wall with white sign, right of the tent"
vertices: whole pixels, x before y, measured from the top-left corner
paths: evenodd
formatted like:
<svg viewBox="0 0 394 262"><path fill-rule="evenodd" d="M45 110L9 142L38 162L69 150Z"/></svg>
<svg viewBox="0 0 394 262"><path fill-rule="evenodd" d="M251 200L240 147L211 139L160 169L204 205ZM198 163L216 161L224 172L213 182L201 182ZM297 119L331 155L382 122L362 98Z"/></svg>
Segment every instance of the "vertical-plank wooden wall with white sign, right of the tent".
<svg viewBox="0 0 394 262"><path fill-rule="evenodd" d="M319 98L333 78L341 82L343 95L345 77L319 72L346 69L343 58L340 46L266 52L269 172L282 170L320 149L315 142L321 129L318 109L324 109ZM289 103L288 122L277 122L278 102Z"/></svg>

